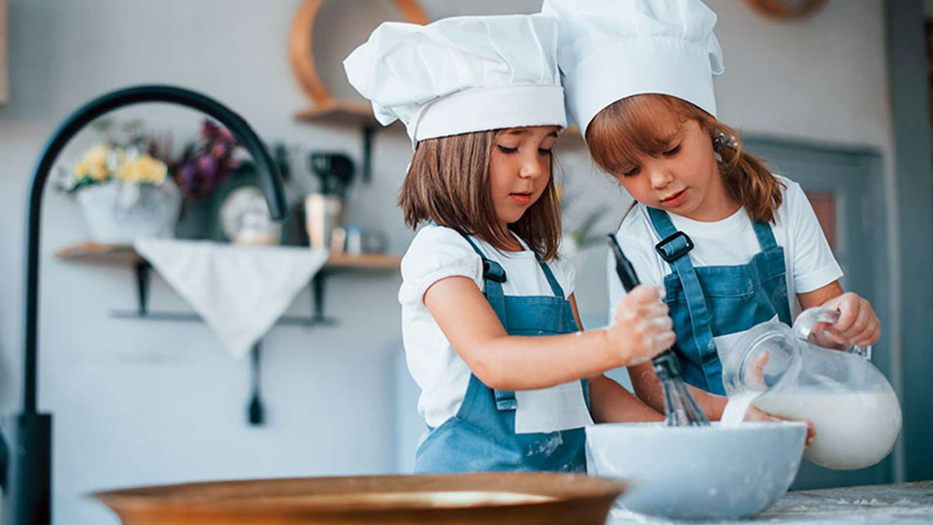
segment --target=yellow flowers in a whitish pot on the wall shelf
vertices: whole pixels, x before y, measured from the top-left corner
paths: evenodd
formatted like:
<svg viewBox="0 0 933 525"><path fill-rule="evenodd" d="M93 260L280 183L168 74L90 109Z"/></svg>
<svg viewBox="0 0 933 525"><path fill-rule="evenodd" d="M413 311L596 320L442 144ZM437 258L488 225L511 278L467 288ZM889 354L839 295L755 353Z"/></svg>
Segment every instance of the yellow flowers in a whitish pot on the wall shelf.
<svg viewBox="0 0 933 525"><path fill-rule="evenodd" d="M106 132L110 121L94 128ZM181 193L160 159L158 141L129 122L128 138L111 136L88 149L63 177L66 192L74 193L91 240L129 244L137 237L169 237L181 206Z"/></svg>

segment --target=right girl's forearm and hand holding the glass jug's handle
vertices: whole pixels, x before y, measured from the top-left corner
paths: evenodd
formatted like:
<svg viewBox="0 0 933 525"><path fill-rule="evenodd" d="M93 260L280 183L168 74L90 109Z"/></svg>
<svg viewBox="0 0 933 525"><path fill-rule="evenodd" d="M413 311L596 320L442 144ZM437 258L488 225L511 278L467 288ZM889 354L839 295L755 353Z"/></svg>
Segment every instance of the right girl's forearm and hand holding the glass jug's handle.
<svg viewBox="0 0 933 525"><path fill-rule="evenodd" d="M815 291L798 293L797 298L803 309L814 306L823 306L831 310L838 310L839 320L826 327L825 331L815 333L821 346L847 348L851 345L868 347L875 344L881 337L881 323L878 316L871 309L870 303L852 293L842 292L839 281L817 288ZM826 339L820 339L825 333Z"/></svg>

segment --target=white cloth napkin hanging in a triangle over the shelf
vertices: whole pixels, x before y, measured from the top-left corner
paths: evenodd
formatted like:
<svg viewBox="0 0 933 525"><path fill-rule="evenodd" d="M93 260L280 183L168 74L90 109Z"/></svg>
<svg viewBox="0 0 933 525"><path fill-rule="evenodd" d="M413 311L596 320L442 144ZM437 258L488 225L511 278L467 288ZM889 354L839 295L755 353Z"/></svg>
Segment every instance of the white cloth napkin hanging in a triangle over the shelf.
<svg viewBox="0 0 933 525"><path fill-rule="evenodd" d="M136 251L243 357L318 270L326 249L141 238Z"/></svg>

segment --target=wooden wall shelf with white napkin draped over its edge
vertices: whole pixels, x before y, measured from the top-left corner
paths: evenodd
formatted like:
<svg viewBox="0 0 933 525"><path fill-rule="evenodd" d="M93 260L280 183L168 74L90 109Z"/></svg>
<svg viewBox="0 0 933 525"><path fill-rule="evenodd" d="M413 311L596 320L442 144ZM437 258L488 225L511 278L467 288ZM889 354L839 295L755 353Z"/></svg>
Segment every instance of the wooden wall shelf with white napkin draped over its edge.
<svg viewBox="0 0 933 525"><path fill-rule="evenodd" d="M55 252L55 257L80 262L142 262L143 258L131 245L101 244L87 242L77 246L63 248ZM363 255L331 255L324 268L327 270L391 270L398 268L401 257L377 253Z"/></svg>

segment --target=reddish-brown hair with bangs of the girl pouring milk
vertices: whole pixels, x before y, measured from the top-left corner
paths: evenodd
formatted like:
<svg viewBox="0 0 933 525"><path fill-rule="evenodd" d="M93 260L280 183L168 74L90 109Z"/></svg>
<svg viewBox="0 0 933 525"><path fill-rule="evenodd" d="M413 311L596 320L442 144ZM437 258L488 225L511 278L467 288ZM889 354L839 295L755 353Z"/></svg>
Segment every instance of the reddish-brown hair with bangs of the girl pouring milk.
<svg viewBox="0 0 933 525"><path fill-rule="evenodd" d="M618 174L622 166L640 156L660 157L670 147L658 129L661 110L681 123L698 121L722 158L719 172L727 194L745 206L753 220L774 221L774 211L783 200L784 184L764 166L763 159L742 149L742 139L735 130L674 96L638 94L617 100L597 113L586 130L593 161L609 174Z"/></svg>

